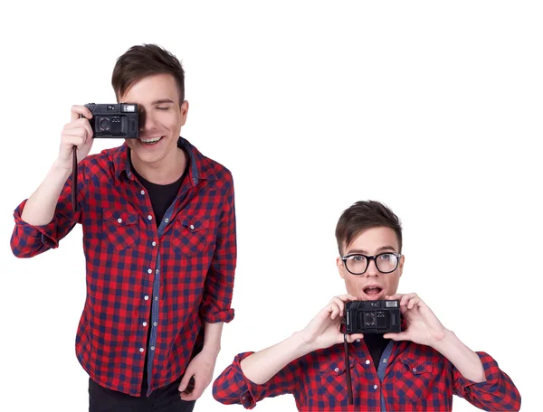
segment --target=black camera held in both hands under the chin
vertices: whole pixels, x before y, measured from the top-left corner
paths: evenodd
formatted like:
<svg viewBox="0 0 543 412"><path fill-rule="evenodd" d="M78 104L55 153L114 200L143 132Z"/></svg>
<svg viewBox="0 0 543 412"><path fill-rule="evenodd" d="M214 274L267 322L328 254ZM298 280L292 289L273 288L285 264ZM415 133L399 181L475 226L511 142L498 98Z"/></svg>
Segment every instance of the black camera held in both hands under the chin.
<svg viewBox="0 0 543 412"><path fill-rule="evenodd" d="M355 301L345 305L347 333L401 332L399 300Z"/></svg>

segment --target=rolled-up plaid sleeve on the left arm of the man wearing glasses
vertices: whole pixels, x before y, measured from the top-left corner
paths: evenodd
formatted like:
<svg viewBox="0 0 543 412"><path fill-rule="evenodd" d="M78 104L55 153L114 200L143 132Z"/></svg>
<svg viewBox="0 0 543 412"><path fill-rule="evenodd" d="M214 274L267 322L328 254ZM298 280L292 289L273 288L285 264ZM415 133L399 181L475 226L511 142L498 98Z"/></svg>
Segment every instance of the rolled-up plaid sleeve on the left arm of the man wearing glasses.
<svg viewBox="0 0 543 412"><path fill-rule="evenodd" d="M233 359L213 384L213 397L224 405L241 404L245 409L252 409L263 398L294 393L300 385L300 359L292 360L270 380L257 385L247 379L241 368L241 361L254 352L243 352Z"/></svg>

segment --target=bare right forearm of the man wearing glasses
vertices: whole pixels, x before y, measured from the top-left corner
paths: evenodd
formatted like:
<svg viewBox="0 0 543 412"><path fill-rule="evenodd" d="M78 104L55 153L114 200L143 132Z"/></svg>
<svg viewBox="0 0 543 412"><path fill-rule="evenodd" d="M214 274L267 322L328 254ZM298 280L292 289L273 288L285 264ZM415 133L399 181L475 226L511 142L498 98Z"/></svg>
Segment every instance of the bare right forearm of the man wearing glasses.
<svg viewBox="0 0 543 412"><path fill-rule="evenodd" d="M433 345L462 374L465 379L473 382L486 380L481 359L470 348L464 345L454 332L447 330L442 341Z"/></svg>

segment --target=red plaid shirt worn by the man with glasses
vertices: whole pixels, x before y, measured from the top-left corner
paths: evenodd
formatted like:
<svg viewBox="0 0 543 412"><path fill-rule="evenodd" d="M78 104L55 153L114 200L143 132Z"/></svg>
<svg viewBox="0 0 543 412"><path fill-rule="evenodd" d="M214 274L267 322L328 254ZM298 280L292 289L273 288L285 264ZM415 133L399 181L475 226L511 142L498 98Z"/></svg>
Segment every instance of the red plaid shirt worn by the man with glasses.
<svg viewBox="0 0 543 412"><path fill-rule="evenodd" d="M304 411L450 411L452 394L488 410L519 410L515 385L484 352L478 352L486 382L462 377L439 352L413 342L389 342L379 365L366 343L349 345L354 405L348 405L343 343L293 360L263 385L243 375L240 353L214 381L213 395L224 404L252 409L263 398L291 393Z"/></svg>

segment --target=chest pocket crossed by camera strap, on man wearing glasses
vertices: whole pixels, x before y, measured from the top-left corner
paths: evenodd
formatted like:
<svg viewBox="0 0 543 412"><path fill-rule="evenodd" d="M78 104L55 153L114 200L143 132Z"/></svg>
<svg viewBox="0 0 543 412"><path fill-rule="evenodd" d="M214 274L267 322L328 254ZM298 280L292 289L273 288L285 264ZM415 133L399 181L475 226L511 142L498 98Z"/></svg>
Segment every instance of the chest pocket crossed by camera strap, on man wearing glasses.
<svg viewBox="0 0 543 412"><path fill-rule="evenodd" d="M359 380L356 360L349 359L349 370L351 375L351 385L353 388L353 398L359 394ZM348 407L348 389L345 360L332 360L324 362L319 368L320 385L318 389L319 403L322 402L327 407Z"/></svg>

